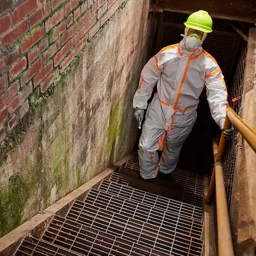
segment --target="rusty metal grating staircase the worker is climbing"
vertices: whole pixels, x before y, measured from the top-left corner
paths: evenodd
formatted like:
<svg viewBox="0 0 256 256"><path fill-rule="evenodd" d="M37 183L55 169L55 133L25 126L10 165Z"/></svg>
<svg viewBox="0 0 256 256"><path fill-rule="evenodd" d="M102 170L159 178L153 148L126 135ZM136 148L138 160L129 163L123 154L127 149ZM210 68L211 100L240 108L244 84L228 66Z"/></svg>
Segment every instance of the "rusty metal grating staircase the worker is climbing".
<svg viewBox="0 0 256 256"><path fill-rule="evenodd" d="M202 255L204 178L175 170L148 183L138 170L134 157L15 255Z"/></svg>

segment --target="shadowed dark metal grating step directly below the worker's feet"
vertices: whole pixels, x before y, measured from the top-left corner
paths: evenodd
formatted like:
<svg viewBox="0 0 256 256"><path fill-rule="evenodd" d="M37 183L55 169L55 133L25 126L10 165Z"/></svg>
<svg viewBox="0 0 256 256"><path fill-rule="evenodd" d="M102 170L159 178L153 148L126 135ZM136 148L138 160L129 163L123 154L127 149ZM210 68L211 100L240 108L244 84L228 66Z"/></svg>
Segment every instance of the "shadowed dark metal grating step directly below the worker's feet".
<svg viewBox="0 0 256 256"><path fill-rule="evenodd" d="M175 200L179 200L180 202L184 202L187 204L193 204L199 207L202 207L204 198L202 195L195 195L193 191L190 191L182 188L181 185L173 182L168 183L168 187L164 186L164 182L159 180L157 182L144 182L142 180L136 179L134 177L129 177L131 174L131 170L125 170L125 174L122 174L124 169L121 169L119 173L114 172L111 175L110 180L119 184L123 184L125 186L131 186L132 188L140 189L145 192L154 193L159 196L165 196L168 198L173 198ZM136 173L138 175L138 173Z"/></svg>

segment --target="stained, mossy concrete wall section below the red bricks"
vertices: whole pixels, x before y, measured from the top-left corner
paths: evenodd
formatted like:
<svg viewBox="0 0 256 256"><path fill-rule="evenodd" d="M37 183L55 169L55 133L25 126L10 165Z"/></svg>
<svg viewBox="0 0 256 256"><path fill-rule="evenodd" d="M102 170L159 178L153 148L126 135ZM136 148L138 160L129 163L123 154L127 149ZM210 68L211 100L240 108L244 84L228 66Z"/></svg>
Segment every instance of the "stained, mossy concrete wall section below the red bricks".
<svg viewBox="0 0 256 256"><path fill-rule="evenodd" d="M131 152L132 97L154 36L148 5L122 3L55 86L31 96L1 145L1 236Z"/></svg>

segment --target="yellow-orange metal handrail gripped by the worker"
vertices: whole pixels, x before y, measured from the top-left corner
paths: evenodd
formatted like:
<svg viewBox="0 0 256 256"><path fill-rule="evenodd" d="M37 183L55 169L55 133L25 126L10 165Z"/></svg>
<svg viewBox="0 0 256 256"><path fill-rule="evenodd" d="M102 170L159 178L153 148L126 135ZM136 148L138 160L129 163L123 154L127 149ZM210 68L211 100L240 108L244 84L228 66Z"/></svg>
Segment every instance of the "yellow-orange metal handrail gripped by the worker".
<svg viewBox="0 0 256 256"><path fill-rule="evenodd" d="M237 131L241 133L244 140L246 140L250 147L253 148L254 152L256 152L256 130L251 125L247 124L240 116L238 116L232 108L228 107L223 131L229 129L231 124L236 127ZM205 198L205 202L211 202L214 193L214 187L216 187L218 248L220 256L234 255L230 220L228 216L227 196L225 193L223 166L221 164L226 141L227 140L223 136L223 132L221 134L219 146L216 140L212 141L214 153L214 170L212 170L212 177L209 184L208 193Z"/></svg>

